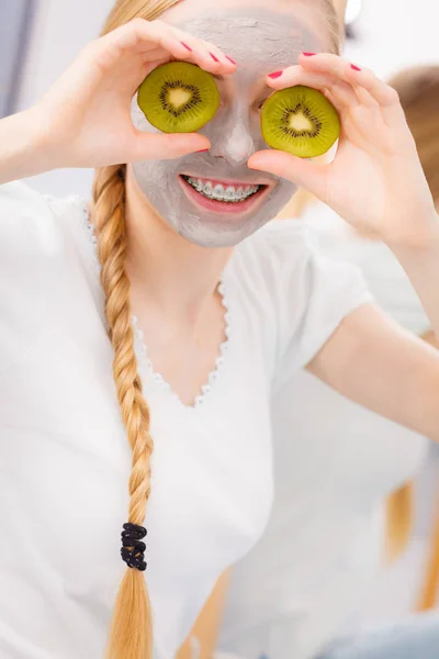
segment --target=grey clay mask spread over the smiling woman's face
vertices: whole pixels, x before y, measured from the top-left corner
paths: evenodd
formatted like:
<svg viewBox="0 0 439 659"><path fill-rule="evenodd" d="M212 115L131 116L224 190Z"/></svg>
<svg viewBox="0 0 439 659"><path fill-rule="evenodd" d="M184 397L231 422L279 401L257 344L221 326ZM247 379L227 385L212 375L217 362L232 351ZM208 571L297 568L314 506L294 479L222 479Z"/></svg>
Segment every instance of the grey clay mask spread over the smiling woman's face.
<svg viewBox="0 0 439 659"><path fill-rule="evenodd" d="M233 79L233 96L222 92L223 103L215 118L200 132L211 141L209 153L191 154L176 160L155 160L132 165L142 191L159 215L181 236L203 247L229 247L275 217L296 191L296 186L247 167L257 150L267 149L260 131L256 85L262 80L259 101L271 90L263 85L267 74L297 63L303 51L316 51L317 37L290 13L255 9L246 12L210 13L179 27L216 44L238 63ZM227 82L230 83L230 82ZM133 122L142 131L156 132L133 101ZM255 210L247 214L219 214L196 206L185 196L179 175L193 178L255 185L272 182Z"/></svg>

